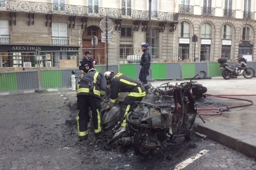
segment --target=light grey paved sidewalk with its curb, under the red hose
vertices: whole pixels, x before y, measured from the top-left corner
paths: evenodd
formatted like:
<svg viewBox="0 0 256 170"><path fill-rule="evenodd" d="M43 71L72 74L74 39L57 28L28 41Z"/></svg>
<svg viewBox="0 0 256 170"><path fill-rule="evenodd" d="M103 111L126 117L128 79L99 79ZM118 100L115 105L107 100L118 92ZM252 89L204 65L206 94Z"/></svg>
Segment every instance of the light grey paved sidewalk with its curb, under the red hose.
<svg viewBox="0 0 256 170"><path fill-rule="evenodd" d="M170 81L154 81L151 84L156 87L165 82L174 84L189 80L170 80ZM200 79L196 80L205 87L207 87L207 94L255 94L256 79L245 79L244 77L238 77L236 79L225 80L222 77L212 77L212 79ZM68 93L64 94L64 92ZM31 91L12 91L0 93L1 96L13 95L13 94L27 94L34 93ZM57 92L64 100L69 102L76 100L75 91L71 91L71 88L53 88L47 89L47 92ZM63 94L64 95L63 95ZM256 103L256 96L236 96L244 99L250 99ZM196 101L197 102L197 101ZM247 102L233 100L233 99L221 99L208 96L207 99L200 99L201 103L204 103L204 107L218 108L224 106L241 105ZM198 108L203 106L198 103ZM221 103L221 105L220 105ZM256 158L256 105L251 105L243 108L233 108L231 112L224 112L221 116L202 116L206 123L203 123L198 117L196 119L196 131L207 135L209 139L212 139L220 144L224 144L227 147L231 147L238 150L241 153L245 153L248 156ZM215 113L215 111L200 111L201 114Z"/></svg>

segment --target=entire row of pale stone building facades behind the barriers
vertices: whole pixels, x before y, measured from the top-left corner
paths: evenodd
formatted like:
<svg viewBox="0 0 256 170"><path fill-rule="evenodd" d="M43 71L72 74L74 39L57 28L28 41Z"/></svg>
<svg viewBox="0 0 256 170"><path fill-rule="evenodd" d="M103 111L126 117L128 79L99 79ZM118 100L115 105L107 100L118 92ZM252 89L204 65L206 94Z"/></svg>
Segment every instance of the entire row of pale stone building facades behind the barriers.
<svg viewBox="0 0 256 170"><path fill-rule="evenodd" d="M109 64L137 62L141 42L153 62L256 60L255 0L151 1L150 41L148 0L0 0L0 68L76 67L85 50L104 65L105 17Z"/></svg>

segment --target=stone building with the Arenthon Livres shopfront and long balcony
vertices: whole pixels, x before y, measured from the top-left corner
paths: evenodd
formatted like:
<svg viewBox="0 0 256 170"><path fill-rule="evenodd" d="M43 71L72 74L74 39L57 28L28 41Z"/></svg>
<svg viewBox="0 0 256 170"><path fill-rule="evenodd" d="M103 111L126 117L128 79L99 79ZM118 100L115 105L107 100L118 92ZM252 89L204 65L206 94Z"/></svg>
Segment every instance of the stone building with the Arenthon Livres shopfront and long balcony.
<svg viewBox="0 0 256 170"><path fill-rule="evenodd" d="M105 17L113 22L108 63L127 63L149 42L148 8L148 0L0 0L0 67L76 67L87 49L105 64ZM151 52L162 61L175 52L175 1L152 0L151 11Z"/></svg>

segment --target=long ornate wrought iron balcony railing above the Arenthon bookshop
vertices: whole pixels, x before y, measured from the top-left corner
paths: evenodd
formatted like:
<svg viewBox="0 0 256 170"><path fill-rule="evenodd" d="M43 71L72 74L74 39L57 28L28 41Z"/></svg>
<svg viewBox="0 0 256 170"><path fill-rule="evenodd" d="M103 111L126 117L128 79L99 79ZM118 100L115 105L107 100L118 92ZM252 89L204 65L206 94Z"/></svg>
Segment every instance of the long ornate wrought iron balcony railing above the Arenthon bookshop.
<svg viewBox="0 0 256 170"><path fill-rule="evenodd" d="M2 2L2 1L0 1ZM53 4L41 2L28 2L17 0L5 0L1 3L0 11L22 11L35 13L50 13L50 14L69 14L79 16L92 17L111 17L122 18L130 17L131 19L148 20L148 11L131 10L122 13L122 9L116 8L100 8L98 6L77 6L67 4ZM131 13L131 14L130 14ZM152 20L178 21L177 14L170 12L151 12Z"/></svg>

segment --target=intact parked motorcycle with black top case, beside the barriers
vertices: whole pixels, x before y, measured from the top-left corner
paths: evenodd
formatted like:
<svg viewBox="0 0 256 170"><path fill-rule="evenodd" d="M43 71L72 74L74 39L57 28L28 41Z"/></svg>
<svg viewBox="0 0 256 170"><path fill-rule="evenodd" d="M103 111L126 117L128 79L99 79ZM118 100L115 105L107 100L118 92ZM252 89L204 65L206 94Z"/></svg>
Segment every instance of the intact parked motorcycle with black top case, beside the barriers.
<svg viewBox="0 0 256 170"><path fill-rule="evenodd" d="M242 57L242 55L239 55L238 62L235 65L228 64L225 57L219 58L218 63L221 64L221 75L224 79L231 79L241 74L244 76L244 78L251 79L255 75L253 68L246 67L247 61L244 59L244 57Z"/></svg>

